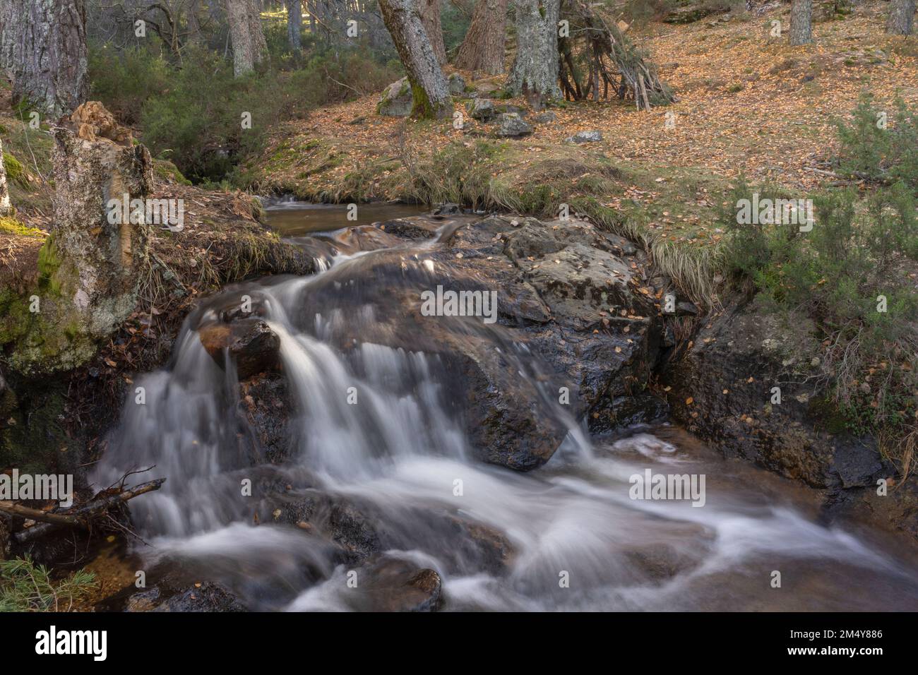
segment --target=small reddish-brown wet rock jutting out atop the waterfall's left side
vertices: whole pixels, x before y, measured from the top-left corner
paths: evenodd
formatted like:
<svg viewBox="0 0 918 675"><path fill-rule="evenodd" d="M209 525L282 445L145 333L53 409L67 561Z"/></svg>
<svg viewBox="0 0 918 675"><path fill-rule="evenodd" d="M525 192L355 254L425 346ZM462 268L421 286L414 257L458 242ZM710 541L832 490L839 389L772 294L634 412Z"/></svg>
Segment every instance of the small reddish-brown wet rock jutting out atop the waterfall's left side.
<svg viewBox="0 0 918 675"><path fill-rule="evenodd" d="M231 323L213 322L198 331L207 354L225 367L229 355L240 379L246 379L280 366L280 338L260 319L241 319Z"/></svg>

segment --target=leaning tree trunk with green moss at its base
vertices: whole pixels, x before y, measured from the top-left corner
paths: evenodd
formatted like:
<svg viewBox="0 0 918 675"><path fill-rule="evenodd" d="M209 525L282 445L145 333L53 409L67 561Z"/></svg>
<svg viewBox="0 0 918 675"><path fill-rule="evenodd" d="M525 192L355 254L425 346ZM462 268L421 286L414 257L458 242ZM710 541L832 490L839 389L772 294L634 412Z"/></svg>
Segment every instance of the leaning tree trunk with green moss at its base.
<svg viewBox="0 0 918 675"><path fill-rule="evenodd" d="M420 20L415 0L379 0L379 8L398 56L408 71L414 97L411 114L419 118L449 117L453 112L449 85Z"/></svg>

